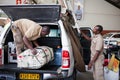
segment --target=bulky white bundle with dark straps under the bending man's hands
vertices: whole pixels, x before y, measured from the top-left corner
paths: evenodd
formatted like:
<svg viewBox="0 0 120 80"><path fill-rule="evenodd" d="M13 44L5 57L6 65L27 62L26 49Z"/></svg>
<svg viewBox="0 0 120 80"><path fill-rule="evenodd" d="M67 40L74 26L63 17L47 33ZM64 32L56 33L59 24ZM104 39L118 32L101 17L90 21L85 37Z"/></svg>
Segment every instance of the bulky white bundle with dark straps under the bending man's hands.
<svg viewBox="0 0 120 80"><path fill-rule="evenodd" d="M37 54L33 55L30 49L25 50L17 56L17 67L39 69L54 59L53 49L48 46L36 48Z"/></svg>

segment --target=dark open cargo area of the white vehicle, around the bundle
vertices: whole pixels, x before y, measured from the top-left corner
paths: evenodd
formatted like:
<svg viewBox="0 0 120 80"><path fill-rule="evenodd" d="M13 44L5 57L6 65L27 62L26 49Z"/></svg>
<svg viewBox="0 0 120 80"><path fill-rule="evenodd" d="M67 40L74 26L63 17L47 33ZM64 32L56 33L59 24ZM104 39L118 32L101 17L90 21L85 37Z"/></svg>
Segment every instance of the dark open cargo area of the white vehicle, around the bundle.
<svg viewBox="0 0 120 80"><path fill-rule="evenodd" d="M4 65L0 66L0 71L14 71L14 72L37 72L37 73L57 73L57 69L61 66L61 37L57 25L49 25L51 32L47 37L41 37L37 41L40 46L49 46L53 48L54 59L45 64L42 68L36 70L17 68L17 58L15 48L13 45L8 46L8 43L14 43L11 30L8 32L4 44ZM13 51L13 53L12 53ZM11 54L12 53L12 54Z"/></svg>

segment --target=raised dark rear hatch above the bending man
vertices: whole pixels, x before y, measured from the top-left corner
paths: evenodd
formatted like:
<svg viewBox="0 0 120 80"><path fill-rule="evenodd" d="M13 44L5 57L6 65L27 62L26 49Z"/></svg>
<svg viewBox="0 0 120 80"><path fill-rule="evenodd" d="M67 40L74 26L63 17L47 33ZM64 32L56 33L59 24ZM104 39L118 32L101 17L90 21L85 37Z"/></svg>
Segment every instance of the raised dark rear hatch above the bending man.
<svg viewBox="0 0 120 80"><path fill-rule="evenodd" d="M54 23L59 20L60 5L0 5L0 8L13 21L20 18L40 23Z"/></svg>

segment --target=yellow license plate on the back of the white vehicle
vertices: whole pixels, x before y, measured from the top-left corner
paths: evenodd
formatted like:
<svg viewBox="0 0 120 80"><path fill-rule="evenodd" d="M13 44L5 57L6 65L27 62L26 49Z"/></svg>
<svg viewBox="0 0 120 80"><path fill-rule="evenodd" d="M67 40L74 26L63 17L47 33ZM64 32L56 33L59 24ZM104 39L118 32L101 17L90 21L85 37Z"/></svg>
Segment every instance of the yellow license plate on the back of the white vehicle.
<svg viewBox="0 0 120 80"><path fill-rule="evenodd" d="M20 80L40 80L40 74L36 73L20 73L19 79Z"/></svg>

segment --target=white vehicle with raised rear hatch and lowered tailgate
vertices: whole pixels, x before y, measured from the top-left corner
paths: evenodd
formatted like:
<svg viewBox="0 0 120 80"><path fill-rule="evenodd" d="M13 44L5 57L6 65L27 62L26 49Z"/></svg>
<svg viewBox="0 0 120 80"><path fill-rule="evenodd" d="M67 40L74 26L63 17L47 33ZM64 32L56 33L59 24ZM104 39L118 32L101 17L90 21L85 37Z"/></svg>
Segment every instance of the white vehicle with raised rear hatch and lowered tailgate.
<svg viewBox="0 0 120 80"><path fill-rule="evenodd" d="M74 56L71 40L66 32L63 22L60 20L60 5L1 5L0 8L15 21L20 18L28 18L42 26L50 27L47 37L39 38L40 45L52 47L54 60L37 70L19 69L16 66L16 54L10 25L4 28L0 36L0 79L6 80L30 79L34 80L75 80ZM29 24L29 23L28 23ZM13 45L12 45L13 46ZM13 50L13 52L11 51ZM34 75L34 76L33 76ZM26 77L25 77L26 76ZM12 79L11 79L12 78Z"/></svg>

